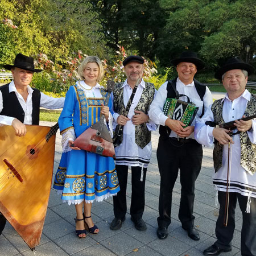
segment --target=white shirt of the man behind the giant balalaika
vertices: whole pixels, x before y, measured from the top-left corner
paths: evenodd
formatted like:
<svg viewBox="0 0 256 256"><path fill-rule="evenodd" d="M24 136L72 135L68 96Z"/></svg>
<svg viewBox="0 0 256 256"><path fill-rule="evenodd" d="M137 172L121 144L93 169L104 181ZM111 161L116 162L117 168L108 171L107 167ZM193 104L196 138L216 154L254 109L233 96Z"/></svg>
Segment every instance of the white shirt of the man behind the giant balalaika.
<svg viewBox="0 0 256 256"><path fill-rule="evenodd" d="M15 92L16 97L19 100L20 105L22 106L22 109L24 110L25 116L24 116L24 124L25 125L31 125L32 124L32 92L34 91L29 85L27 86L28 96L27 101L24 101L24 98L21 96L20 93L18 93L14 81L10 82L9 85L9 92ZM41 99L40 99L40 107L46 108L46 109L59 109L63 108L64 106L65 98L53 98L49 97L44 93L41 93ZM0 91L0 113L3 110L3 97L2 92ZM13 122L14 117L8 117L6 115L0 115L0 125L11 125Z"/></svg>

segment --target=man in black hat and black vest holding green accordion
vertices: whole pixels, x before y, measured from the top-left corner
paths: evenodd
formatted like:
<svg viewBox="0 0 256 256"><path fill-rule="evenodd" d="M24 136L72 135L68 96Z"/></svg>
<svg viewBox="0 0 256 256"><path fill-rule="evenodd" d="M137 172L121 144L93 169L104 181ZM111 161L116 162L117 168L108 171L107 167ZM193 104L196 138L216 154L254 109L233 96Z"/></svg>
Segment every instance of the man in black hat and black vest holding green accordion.
<svg viewBox="0 0 256 256"><path fill-rule="evenodd" d="M176 66L178 77L164 82L159 88L149 112L150 119L160 125L156 152L161 177L157 235L160 239L168 236L167 229L171 224L172 189L180 170L179 220L188 236L192 240L199 240L199 233L194 226L193 204L195 181L201 170L203 158L202 146L193 137L195 120L184 128L184 123L168 118L163 113L163 106L167 98L175 98L175 90L177 90L179 94L188 96L199 107L195 118L197 119L212 104L212 95L205 85L194 79L197 70L204 68L204 62L195 52L183 52L179 58L171 62ZM187 101L187 97L184 96L179 99Z"/></svg>

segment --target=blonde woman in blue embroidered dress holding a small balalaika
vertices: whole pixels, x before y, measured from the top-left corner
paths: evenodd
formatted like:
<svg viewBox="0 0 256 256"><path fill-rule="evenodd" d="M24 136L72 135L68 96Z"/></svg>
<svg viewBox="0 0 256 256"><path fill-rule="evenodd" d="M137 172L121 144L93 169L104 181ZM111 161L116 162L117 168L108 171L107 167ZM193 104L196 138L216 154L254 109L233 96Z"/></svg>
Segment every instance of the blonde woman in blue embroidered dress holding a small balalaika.
<svg viewBox="0 0 256 256"><path fill-rule="evenodd" d="M71 146L81 133L100 121L101 115L105 116L106 122L112 118L109 112L112 102L104 106L107 93L98 84L104 75L100 59L86 57L78 73L81 80L69 88L59 118L63 155L53 188L62 194L64 202L75 204L76 234L85 238L85 229L91 234L99 232L91 218L93 201L116 195L119 183L113 158Z"/></svg>

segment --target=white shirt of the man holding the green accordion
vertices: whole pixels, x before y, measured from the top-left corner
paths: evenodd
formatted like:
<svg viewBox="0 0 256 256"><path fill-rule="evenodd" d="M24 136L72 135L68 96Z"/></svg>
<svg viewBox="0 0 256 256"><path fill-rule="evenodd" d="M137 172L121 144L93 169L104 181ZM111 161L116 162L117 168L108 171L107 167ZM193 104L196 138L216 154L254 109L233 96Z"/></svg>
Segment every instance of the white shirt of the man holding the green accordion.
<svg viewBox="0 0 256 256"><path fill-rule="evenodd" d="M152 121L154 121L158 125L163 125L163 126L165 126L166 119L168 118L163 113L163 106L164 106L164 102L166 102L166 97L167 97L167 84L168 84L168 81L164 82L164 84L160 86L158 93L156 94L156 97L154 98L154 101L150 106L150 111L148 112L150 119ZM203 101L204 101L205 112L207 111L209 106L212 104L212 94L210 93L209 88L207 87L205 90L203 101L201 101L201 98L197 93L194 81L192 81L191 84L185 85L178 78L176 83L176 90L179 92L179 94L187 95L189 99L193 103L195 103L197 107L199 107L196 117L191 124L191 126L195 126L196 119L200 118L202 114ZM187 101L187 97L180 97L179 100ZM177 134L174 131L171 131L170 137L177 137ZM194 138L193 133L189 135L187 139L188 138Z"/></svg>

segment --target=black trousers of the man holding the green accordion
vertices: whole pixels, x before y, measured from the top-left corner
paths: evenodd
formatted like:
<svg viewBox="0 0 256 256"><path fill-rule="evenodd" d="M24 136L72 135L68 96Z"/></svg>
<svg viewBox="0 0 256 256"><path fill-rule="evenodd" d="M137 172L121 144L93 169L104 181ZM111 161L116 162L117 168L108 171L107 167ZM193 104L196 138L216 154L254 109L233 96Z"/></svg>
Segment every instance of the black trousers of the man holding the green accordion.
<svg viewBox="0 0 256 256"><path fill-rule="evenodd" d="M179 144L179 142L173 142L162 136L159 137L158 149L156 151L161 177L159 228L168 228L171 224L172 189L174 188L179 169L181 183L179 220L185 229L194 225L195 181L201 170L203 148L195 139L189 139L181 147L175 146Z"/></svg>

